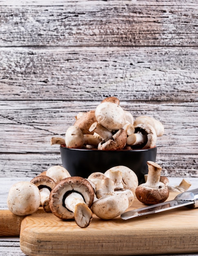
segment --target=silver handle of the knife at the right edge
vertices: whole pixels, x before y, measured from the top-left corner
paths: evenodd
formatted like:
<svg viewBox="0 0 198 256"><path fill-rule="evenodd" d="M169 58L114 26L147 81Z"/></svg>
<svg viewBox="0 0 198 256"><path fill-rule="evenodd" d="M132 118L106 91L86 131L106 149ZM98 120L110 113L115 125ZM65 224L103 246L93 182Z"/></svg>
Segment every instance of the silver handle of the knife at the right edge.
<svg viewBox="0 0 198 256"><path fill-rule="evenodd" d="M192 201L192 204L189 204L189 208L198 208L198 188L185 191L176 196L176 200L187 200Z"/></svg>

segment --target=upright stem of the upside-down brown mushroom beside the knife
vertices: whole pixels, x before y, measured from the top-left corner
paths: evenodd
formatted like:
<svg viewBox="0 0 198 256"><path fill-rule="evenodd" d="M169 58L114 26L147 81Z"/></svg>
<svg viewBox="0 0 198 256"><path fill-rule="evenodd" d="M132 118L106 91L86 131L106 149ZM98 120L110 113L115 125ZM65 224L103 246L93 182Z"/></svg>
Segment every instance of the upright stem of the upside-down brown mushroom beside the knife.
<svg viewBox="0 0 198 256"><path fill-rule="evenodd" d="M151 161L147 161L147 165L149 171L147 176L147 182L145 184L153 189L156 189L160 186L160 174L162 171L162 167L159 164Z"/></svg>

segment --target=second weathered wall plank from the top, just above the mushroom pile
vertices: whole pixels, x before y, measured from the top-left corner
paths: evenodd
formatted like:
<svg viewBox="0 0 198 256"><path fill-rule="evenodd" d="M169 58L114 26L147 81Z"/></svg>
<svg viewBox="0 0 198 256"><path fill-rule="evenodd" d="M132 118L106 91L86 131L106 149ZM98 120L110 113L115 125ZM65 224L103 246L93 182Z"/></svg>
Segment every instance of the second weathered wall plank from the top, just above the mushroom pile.
<svg viewBox="0 0 198 256"><path fill-rule="evenodd" d="M197 47L1 48L1 100L198 101Z"/></svg>

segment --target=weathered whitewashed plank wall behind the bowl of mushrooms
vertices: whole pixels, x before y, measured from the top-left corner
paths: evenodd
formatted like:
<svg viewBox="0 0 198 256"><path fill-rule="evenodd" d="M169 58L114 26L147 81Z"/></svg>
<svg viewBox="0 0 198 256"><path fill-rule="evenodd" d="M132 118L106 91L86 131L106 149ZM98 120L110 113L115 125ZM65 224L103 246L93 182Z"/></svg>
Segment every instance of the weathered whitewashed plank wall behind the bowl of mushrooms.
<svg viewBox="0 0 198 256"><path fill-rule="evenodd" d="M54 135L116 96L165 126L162 173L198 177L198 1L0 1L0 177L62 164Z"/></svg>

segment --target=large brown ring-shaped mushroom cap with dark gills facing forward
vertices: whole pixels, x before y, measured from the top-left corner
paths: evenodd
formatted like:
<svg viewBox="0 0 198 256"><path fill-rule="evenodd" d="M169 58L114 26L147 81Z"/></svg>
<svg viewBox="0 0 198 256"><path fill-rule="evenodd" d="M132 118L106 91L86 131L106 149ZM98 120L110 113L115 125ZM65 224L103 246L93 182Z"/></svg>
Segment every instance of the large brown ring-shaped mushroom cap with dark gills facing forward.
<svg viewBox="0 0 198 256"><path fill-rule="evenodd" d="M65 198L72 192L80 193L89 208L93 204L94 189L88 180L78 176L61 180L50 193L49 205L52 213L62 220L74 218L74 213L65 207Z"/></svg>

